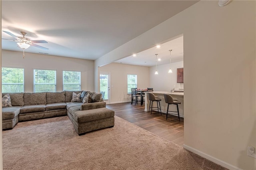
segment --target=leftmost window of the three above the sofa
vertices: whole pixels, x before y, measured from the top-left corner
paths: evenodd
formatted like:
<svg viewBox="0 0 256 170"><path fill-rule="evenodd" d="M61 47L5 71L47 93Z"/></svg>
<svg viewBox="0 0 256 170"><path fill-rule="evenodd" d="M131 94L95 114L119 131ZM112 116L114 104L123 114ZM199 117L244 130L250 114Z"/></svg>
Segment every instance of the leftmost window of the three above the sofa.
<svg viewBox="0 0 256 170"><path fill-rule="evenodd" d="M2 67L2 93L24 92L24 69Z"/></svg>

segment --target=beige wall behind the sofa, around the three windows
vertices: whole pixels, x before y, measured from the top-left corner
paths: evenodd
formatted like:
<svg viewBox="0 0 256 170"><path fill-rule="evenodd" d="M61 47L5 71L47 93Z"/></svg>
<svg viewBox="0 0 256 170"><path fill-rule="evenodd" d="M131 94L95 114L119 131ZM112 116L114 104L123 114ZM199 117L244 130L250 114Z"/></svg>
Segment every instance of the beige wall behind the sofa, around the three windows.
<svg viewBox="0 0 256 170"><path fill-rule="evenodd" d="M81 71L81 90L94 91L94 61L2 50L2 67L24 68L24 92L34 91L34 69L56 70L56 91L62 91L62 71Z"/></svg>

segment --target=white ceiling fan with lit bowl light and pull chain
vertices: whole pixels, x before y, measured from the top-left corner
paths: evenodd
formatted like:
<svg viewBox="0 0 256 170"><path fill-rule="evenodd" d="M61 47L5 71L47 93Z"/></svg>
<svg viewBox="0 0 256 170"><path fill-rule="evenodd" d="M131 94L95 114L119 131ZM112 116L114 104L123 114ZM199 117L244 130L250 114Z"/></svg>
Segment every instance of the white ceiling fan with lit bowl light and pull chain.
<svg viewBox="0 0 256 170"><path fill-rule="evenodd" d="M8 32L8 31L3 31L3 32L5 32L6 34L9 34L10 36L16 38L16 40L10 40L10 39L2 38L2 40L10 40L10 41L17 42L18 46L23 49L23 58L25 56L24 55L24 49L27 49L28 47L30 47L30 45L32 45L34 47L41 48L41 49L48 49L46 47L42 47L40 45L34 44L34 43L48 43L48 42L46 42L45 40L30 40L28 38L25 38L25 36L27 34L26 32L20 32L23 37L17 37L14 34Z"/></svg>

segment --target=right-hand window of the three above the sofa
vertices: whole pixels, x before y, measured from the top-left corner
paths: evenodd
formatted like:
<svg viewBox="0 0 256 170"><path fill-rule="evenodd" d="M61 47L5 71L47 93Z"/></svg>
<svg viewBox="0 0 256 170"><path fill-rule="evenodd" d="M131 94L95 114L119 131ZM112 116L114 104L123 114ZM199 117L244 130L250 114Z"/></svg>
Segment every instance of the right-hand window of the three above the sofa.
<svg viewBox="0 0 256 170"><path fill-rule="evenodd" d="M63 71L63 91L64 90L81 90L81 72Z"/></svg>

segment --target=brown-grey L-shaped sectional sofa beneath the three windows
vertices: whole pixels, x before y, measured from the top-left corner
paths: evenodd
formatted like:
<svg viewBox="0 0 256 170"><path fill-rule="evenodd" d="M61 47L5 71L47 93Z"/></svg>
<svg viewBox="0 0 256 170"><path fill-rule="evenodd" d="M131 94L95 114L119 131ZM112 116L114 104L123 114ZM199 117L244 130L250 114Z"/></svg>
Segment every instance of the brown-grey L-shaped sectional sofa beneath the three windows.
<svg viewBox="0 0 256 170"><path fill-rule="evenodd" d="M81 93L80 99L76 100L76 102L72 102L73 92L76 94ZM6 94L2 93L2 97ZM106 103L100 93L90 91L62 91L8 94L10 95L12 106L2 107L3 130L12 129L21 121L65 115L68 115L78 134L114 126L114 111L106 108ZM92 103L82 103L86 96L91 98L90 102ZM89 112L90 114L88 115ZM94 117L90 118L90 115L94 115ZM104 120L102 121L100 119ZM97 125L94 126L94 124ZM90 125L89 128L87 125Z"/></svg>

